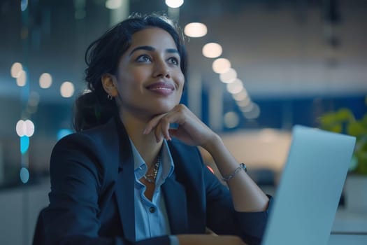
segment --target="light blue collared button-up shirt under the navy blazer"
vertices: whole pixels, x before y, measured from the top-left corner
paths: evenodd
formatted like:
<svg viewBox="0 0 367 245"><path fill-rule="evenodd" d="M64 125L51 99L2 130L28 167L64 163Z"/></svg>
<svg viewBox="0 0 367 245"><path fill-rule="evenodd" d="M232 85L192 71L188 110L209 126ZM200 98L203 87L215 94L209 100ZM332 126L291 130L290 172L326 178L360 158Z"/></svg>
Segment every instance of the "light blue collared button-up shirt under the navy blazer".
<svg viewBox="0 0 367 245"><path fill-rule="evenodd" d="M171 176L175 166L166 140L164 140L161 148L161 165L157 172L155 190L152 201L145 197L145 185L139 181L147 172L147 165L143 158L136 150L133 142L131 148L134 155L134 207L135 207L135 236L136 241L147 239L150 237L158 237L170 235L171 229L169 226L168 215L166 212L166 204L164 195L161 192L161 185L166 179ZM179 245L178 238L169 236L171 245Z"/></svg>

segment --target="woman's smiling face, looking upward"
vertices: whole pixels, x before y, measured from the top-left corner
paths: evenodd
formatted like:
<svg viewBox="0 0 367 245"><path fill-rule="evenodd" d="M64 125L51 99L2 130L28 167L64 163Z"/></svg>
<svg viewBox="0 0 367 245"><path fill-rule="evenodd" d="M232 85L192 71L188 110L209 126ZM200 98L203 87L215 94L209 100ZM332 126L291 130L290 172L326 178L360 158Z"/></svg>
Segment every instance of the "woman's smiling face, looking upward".
<svg viewBox="0 0 367 245"><path fill-rule="evenodd" d="M113 81L123 116L150 119L171 111L180 102L185 81L172 36L157 27L133 34Z"/></svg>

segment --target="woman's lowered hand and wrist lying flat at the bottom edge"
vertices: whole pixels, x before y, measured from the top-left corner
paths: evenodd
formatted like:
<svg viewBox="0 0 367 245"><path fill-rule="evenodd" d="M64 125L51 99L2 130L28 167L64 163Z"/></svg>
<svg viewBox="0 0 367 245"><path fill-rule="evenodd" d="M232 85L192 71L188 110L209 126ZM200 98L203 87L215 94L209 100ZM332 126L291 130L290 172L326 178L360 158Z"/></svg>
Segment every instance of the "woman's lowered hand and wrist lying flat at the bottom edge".
<svg viewBox="0 0 367 245"><path fill-rule="evenodd" d="M246 245L240 237L213 235L178 235L180 245Z"/></svg>

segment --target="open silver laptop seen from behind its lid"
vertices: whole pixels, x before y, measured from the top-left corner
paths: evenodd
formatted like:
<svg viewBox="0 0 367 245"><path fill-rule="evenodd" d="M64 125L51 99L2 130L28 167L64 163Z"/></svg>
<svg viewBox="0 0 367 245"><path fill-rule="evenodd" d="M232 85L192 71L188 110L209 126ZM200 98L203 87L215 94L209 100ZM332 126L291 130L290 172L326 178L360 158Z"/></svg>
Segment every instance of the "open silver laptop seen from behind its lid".
<svg viewBox="0 0 367 245"><path fill-rule="evenodd" d="M355 138L296 125L261 245L327 244Z"/></svg>

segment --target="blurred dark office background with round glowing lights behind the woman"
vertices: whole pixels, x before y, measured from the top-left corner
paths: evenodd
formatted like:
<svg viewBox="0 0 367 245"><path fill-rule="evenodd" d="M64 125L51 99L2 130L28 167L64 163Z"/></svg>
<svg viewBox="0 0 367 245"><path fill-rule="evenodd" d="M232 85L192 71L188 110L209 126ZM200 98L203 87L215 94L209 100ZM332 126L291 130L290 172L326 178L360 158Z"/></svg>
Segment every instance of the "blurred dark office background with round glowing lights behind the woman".
<svg viewBox="0 0 367 245"><path fill-rule="evenodd" d="M0 244L31 243L52 147L73 132L85 90L87 45L131 13L166 13L185 29L182 103L264 188L276 186L293 125L319 127L342 108L366 113L367 1L182 2L0 1Z"/></svg>

